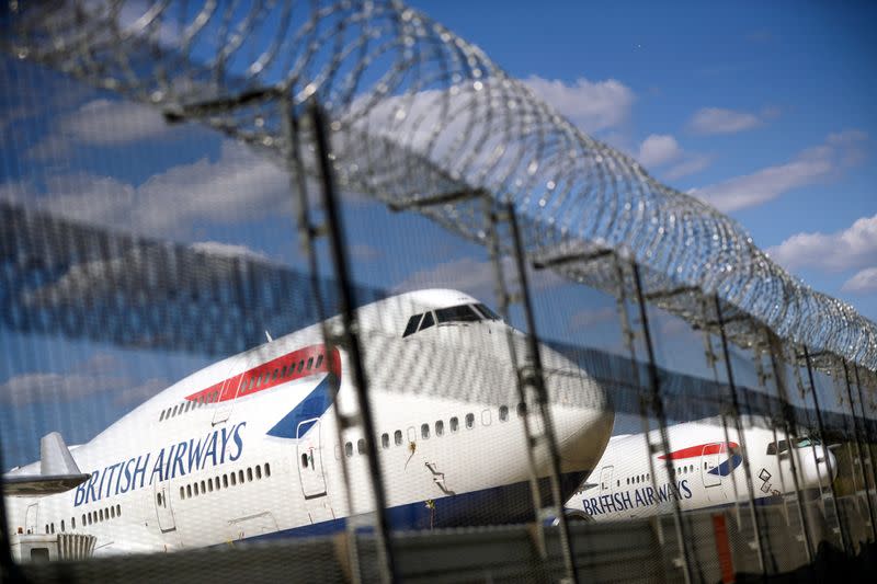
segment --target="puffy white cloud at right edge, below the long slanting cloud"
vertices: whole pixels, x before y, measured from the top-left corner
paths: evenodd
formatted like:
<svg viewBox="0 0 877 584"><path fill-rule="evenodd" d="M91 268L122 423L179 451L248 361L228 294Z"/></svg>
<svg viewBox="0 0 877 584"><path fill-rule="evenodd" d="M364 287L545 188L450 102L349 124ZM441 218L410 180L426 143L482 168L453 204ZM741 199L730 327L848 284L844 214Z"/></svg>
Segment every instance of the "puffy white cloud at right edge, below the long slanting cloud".
<svg viewBox="0 0 877 584"><path fill-rule="evenodd" d="M862 217L834 233L796 233L767 253L787 270L810 267L842 272L877 264L877 215ZM856 276L853 279L856 279ZM865 282L868 275L862 276ZM856 286L853 280L847 282ZM852 283L852 284L851 284ZM844 284L846 286L846 284Z"/></svg>

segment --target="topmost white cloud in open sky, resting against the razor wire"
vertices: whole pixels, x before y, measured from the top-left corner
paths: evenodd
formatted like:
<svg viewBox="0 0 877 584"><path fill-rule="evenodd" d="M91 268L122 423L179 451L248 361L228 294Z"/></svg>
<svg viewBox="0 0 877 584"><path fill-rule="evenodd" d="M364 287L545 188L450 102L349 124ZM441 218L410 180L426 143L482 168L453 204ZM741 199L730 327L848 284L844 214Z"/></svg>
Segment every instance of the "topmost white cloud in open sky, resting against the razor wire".
<svg viewBox="0 0 877 584"><path fill-rule="evenodd" d="M589 81L579 78L567 84L532 76L524 83L585 131L600 131L623 124L635 100L630 88L615 79Z"/></svg>

